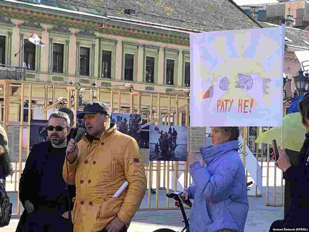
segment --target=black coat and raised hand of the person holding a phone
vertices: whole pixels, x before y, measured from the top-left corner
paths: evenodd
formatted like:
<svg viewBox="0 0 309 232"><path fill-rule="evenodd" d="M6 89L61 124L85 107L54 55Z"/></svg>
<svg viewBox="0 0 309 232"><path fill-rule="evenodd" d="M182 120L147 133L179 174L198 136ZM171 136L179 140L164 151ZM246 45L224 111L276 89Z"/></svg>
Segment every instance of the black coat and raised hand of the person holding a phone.
<svg viewBox="0 0 309 232"><path fill-rule="evenodd" d="M279 158L275 164L283 171L283 178L286 182L289 182L293 195L290 201L290 209L284 220L274 221L269 231L274 231L273 229L277 228L308 228L309 133L306 134L306 139L300 150L298 165L291 164L284 149L279 150Z"/></svg>

